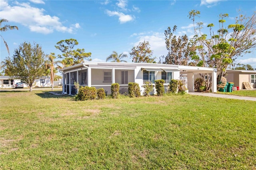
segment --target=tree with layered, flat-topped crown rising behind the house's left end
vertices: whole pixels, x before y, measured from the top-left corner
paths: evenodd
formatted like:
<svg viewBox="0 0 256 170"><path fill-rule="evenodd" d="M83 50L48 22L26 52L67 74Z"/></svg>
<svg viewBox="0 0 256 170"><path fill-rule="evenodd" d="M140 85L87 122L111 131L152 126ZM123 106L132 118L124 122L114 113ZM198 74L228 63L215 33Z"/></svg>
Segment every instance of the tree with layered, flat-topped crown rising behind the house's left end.
<svg viewBox="0 0 256 170"><path fill-rule="evenodd" d="M72 38L61 40L55 45L56 49L59 49L63 53L62 55L58 55L58 58L63 59L63 68L84 62L84 59L88 61L92 60L88 59L88 57L91 57L92 53L86 53L84 52L84 49L79 48L75 50L75 45L78 45L78 41Z"/></svg>

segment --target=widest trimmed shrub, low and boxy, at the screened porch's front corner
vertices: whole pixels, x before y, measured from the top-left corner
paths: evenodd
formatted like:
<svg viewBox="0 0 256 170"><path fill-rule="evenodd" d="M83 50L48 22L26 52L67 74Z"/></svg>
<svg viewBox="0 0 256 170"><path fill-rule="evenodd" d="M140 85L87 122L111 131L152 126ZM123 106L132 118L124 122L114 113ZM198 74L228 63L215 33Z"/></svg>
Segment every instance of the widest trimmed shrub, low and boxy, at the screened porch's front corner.
<svg viewBox="0 0 256 170"><path fill-rule="evenodd" d="M94 100L96 99L97 93L95 87L80 87L78 94L76 95L76 100Z"/></svg>

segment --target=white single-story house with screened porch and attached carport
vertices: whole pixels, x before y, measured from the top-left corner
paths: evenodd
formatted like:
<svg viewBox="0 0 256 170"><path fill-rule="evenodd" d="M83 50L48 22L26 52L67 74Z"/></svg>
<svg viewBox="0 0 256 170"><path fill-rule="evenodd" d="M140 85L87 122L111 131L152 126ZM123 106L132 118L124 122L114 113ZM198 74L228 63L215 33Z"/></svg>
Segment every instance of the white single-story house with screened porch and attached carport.
<svg viewBox="0 0 256 170"><path fill-rule="evenodd" d="M128 93L128 83L138 83L143 93L144 82L153 83L156 79L164 79L168 86L171 79L185 79L188 91L194 91L194 75L209 73L212 78L212 92L217 91L216 69L208 67L192 67L183 65L167 65L156 63L96 63L85 62L60 69L63 76L63 93L75 95L74 82L80 86L103 88L111 93L111 84L120 85L120 93Z"/></svg>

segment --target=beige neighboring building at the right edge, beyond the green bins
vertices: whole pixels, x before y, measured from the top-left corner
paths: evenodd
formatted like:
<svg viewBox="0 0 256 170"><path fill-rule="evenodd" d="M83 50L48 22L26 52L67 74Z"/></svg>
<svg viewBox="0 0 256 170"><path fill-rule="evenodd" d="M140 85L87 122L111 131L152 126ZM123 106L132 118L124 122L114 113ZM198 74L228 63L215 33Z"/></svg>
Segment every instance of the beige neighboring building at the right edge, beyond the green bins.
<svg viewBox="0 0 256 170"><path fill-rule="evenodd" d="M253 88L256 88L256 70L227 70L227 82L233 82L234 87L242 89L243 82L249 82Z"/></svg>

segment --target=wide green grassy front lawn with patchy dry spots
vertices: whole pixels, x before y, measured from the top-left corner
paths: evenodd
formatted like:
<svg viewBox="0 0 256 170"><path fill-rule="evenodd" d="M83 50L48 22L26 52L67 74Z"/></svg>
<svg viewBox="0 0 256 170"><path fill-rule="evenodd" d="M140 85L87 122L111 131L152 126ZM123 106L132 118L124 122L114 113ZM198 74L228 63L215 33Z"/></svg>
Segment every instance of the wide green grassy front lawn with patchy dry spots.
<svg viewBox="0 0 256 170"><path fill-rule="evenodd" d="M0 93L0 169L256 169L256 102Z"/></svg>

